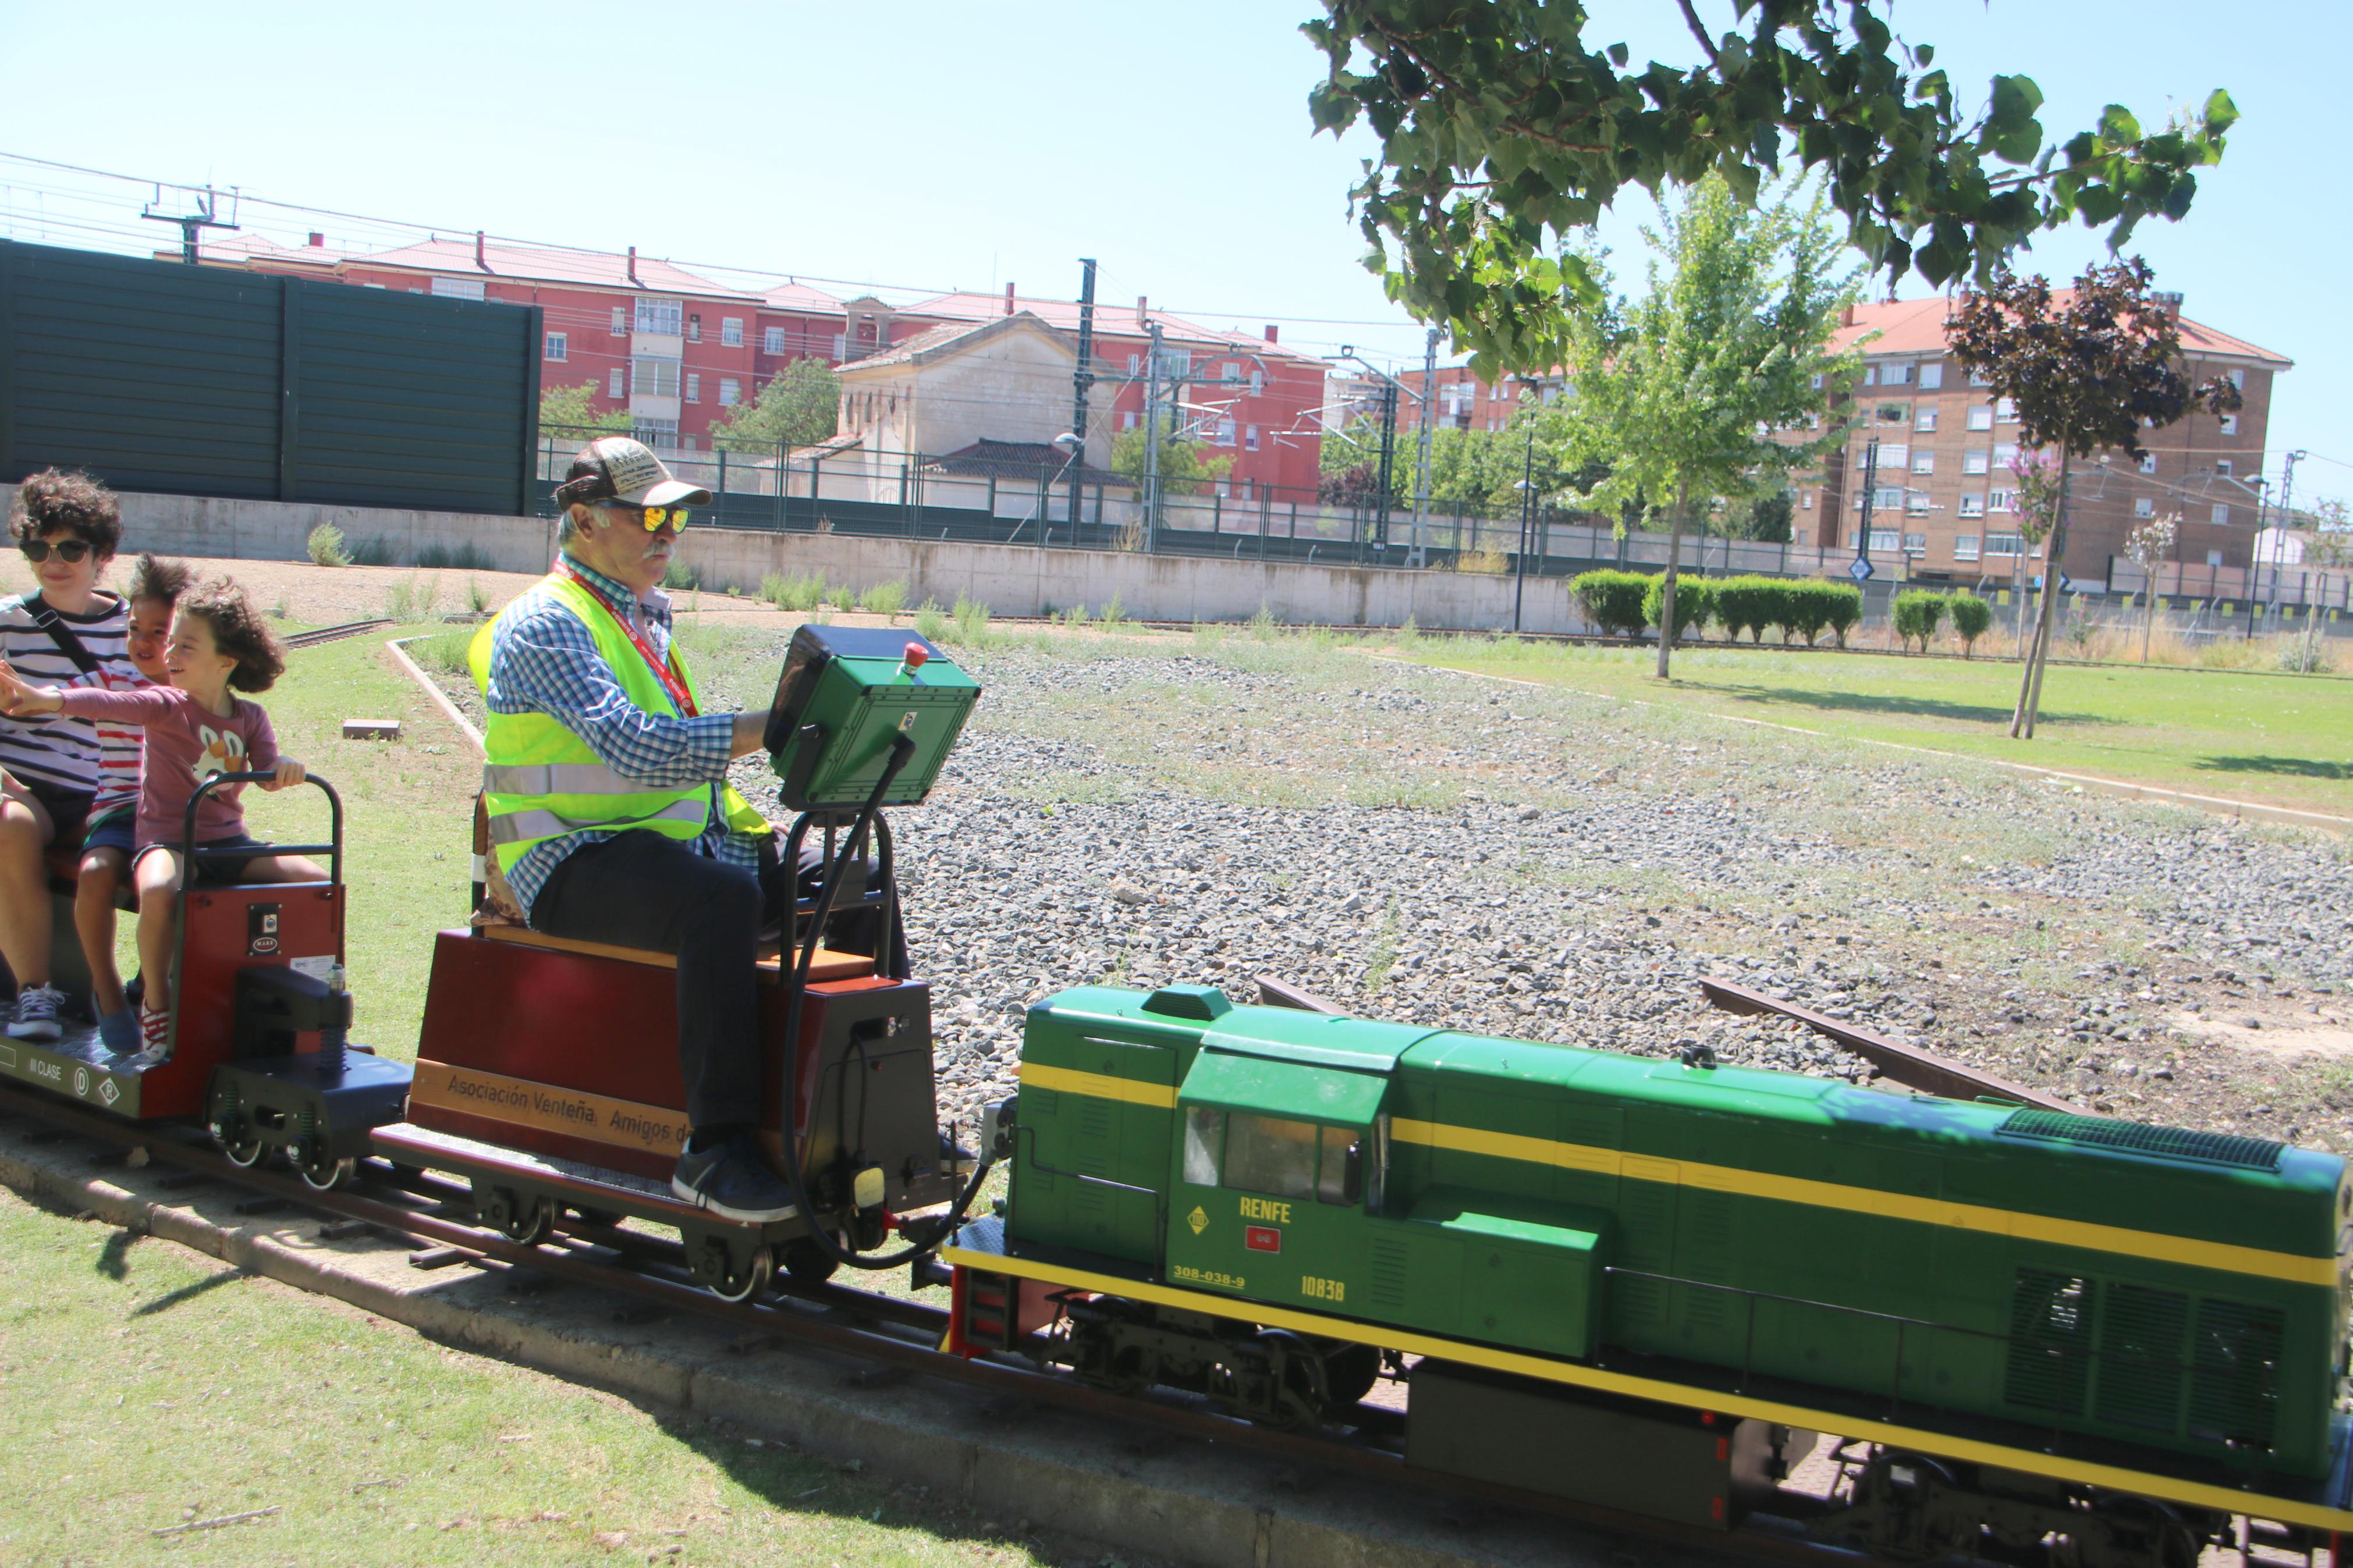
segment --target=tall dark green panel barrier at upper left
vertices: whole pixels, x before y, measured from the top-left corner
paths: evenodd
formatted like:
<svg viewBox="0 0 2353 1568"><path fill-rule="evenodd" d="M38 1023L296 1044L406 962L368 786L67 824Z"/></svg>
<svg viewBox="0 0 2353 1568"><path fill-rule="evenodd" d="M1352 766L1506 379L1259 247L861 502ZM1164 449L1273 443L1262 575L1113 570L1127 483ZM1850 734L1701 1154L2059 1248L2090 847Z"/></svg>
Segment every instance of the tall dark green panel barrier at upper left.
<svg viewBox="0 0 2353 1568"><path fill-rule="evenodd" d="M529 512L539 308L0 240L0 480Z"/></svg>

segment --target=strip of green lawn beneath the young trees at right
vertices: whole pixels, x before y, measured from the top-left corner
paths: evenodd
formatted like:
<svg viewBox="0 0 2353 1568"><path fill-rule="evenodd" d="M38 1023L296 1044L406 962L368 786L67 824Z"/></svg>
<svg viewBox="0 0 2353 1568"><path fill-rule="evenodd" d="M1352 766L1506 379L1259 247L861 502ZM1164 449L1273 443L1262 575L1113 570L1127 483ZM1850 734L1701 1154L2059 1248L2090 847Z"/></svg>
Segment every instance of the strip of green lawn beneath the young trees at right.
<svg viewBox="0 0 2353 1568"><path fill-rule="evenodd" d="M1675 679L1661 684L1657 651L1642 649L1426 637L1407 656L1826 736L2353 816L2353 679L2052 665L2035 738L2012 741L2019 665L1993 658L1708 646L1678 651Z"/></svg>

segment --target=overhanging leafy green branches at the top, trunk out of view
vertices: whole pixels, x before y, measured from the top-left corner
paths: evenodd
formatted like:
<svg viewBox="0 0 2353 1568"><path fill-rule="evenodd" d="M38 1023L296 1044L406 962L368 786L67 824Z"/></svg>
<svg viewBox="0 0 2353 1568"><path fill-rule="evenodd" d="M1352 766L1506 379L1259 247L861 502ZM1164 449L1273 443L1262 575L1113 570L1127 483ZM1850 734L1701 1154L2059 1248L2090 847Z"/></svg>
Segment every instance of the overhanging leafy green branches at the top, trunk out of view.
<svg viewBox="0 0 2353 1568"><path fill-rule="evenodd" d="M1365 266L1480 376L1565 360L1605 294L1577 235L1626 186L1715 174L1753 205L1793 162L1824 176L1889 287L1908 270L1988 284L2035 233L2080 219L2115 249L2148 216L2181 219L2238 120L2224 92L2162 129L2111 103L2052 143L2031 78L1965 99L1932 45L1894 35L1894 0L1680 5L1697 63L1640 68L1558 0L1322 0L1301 26L1327 61L1315 129L1365 120L1381 141L1351 190ZM1711 31L1704 5L1734 28Z"/></svg>

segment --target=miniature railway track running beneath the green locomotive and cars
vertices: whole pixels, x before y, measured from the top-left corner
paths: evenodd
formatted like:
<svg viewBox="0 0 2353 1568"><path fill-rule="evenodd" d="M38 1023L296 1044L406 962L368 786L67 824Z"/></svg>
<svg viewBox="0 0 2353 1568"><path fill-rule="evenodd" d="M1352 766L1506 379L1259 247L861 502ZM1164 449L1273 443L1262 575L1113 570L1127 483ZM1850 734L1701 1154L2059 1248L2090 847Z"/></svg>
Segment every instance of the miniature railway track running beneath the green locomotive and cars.
<svg viewBox="0 0 2353 1568"><path fill-rule="evenodd" d="M471 1206L466 1182L433 1173L398 1171L381 1159L360 1164L355 1187L320 1192L294 1175L235 1166L207 1135L193 1128L115 1121L56 1103L38 1091L0 1086L0 1117L21 1117L54 1133L87 1138L118 1150L122 1157L129 1157L132 1150L146 1150L151 1164L162 1161L224 1187L275 1199L273 1206L301 1208L329 1220L360 1222L381 1234L407 1237L426 1251L440 1251L449 1265L539 1272L558 1281L614 1291L666 1312L736 1324L772 1333L779 1340L880 1361L882 1366L962 1382L1009 1399L1249 1448L1285 1462L1346 1469L1433 1497L1459 1497L1489 1507L1506 1505L1525 1514L1640 1535L1692 1552L1786 1563L1871 1561L1849 1549L1795 1535L1786 1519L1765 1519L1762 1526L1751 1523L1727 1533L1699 1530L1642 1514L1621 1514L1508 1486L1414 1469L1405 1465L1405 1458L1395 1448L1402 1422L1400 1410L1391 1408L1362 1406L1355 1418L1355 1436L1339 1439L1249 1425L1217 1415L1200 1403L1184 1403L1186 1396L1181 1394L1113 1394L1024 1363L995 1359L967 1361L939 1349L948 1331L946 1309L873 1291L833 1284L807 1286L779 1276L765 1302L722 1302L704 1288L673 1276L685 1272L682 1248L675 1241L562 1220L551 1241L522 1246L494 1229L449 1218L449 1208L464 1211ZM1802 1507L1805 1497L1793 1495L1793 1502Z"/></svg>

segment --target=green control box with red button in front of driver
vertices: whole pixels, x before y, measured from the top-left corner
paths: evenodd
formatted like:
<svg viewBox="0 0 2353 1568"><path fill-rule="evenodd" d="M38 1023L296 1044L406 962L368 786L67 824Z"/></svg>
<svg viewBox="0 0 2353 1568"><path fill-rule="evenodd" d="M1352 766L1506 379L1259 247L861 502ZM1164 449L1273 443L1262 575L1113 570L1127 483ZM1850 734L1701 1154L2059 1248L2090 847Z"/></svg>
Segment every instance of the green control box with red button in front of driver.
<svg viewBox="0 0 2353 1568"><path fill-rule="evenodd" d="M911 750L880 804L918 804L979 696L979 684L922 637L802 625L784 656L765 731L786 809L864 806L901 736Z"/></svg>

